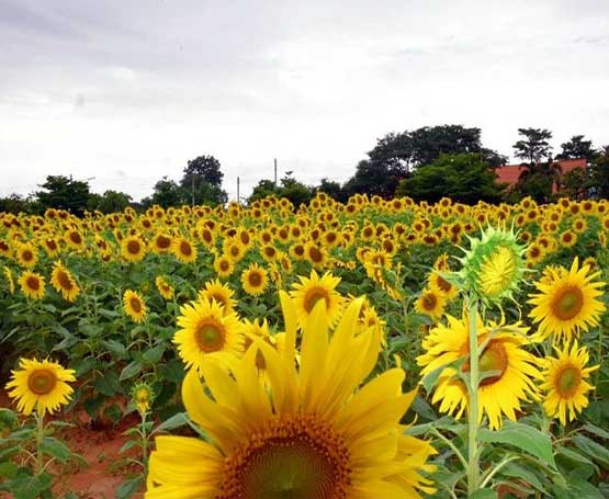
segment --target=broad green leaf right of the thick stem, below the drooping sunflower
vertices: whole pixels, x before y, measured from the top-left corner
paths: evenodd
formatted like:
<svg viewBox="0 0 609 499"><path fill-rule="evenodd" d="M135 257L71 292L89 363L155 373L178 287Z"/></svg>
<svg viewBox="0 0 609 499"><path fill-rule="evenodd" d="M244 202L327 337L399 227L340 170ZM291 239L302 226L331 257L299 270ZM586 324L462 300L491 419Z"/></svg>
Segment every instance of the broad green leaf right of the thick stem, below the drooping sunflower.
<svg viewBox="0 0 609 499"><path fill-rule="evenodd" d="M550 436L533 427L507 421L498 431L480 430L480 440L486 443L505 443L528 452L556 469Z"/></svg>

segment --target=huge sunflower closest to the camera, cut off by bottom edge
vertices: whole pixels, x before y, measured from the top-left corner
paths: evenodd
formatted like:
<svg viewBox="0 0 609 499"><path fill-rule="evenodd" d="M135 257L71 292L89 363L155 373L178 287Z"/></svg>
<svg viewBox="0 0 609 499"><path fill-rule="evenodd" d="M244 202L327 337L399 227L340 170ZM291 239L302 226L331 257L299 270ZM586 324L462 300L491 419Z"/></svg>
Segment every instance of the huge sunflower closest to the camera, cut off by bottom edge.
<svg viewBox="0 0 609 499"><path fill-rule="evenodd" d="M287 324L283 353L261 341L233 374L214 363L187 374L182 399L210 441L157 436L146 499L420 498L432 492L420 472L435 451L404 434L401 419L415 390L403 394L394 368L360 388L376 363L380 337L356 337L361 299L347 309L331 339L323 305L304 328L296 366L296 307L281 293ZM257 376L261 351L268 383Z"/></svg>

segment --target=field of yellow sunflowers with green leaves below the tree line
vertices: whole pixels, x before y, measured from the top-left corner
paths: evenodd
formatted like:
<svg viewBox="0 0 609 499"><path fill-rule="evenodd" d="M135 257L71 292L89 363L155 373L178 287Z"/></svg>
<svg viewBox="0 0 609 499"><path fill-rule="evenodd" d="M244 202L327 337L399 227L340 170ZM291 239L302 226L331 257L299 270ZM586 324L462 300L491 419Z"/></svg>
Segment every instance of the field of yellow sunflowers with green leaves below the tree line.
<svg viewBox="0 0 609 499"><path fill-rule="evenodd" d="M0 497L88 497L78 411L131 421L120 498L609 497L608 237L605 200L0 213Z"/></svg>

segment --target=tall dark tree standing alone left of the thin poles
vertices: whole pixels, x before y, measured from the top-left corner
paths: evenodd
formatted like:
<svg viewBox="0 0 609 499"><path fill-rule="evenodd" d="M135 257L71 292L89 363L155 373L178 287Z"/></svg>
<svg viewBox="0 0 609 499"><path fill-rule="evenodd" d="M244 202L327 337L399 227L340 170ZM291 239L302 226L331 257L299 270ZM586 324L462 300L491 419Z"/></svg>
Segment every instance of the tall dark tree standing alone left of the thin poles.
<svg viewBox="0 0 609 499"><path fill-rule="evenodd" d="M185 203L214 206L228 201L226 191L222 189L224 173L221 171L219 161L213 156L199 156L189 160L183 172L180 186L183 190Z"/></svg>

